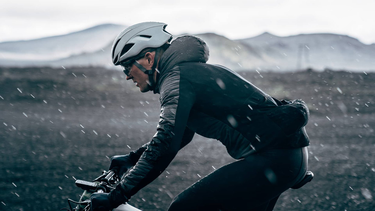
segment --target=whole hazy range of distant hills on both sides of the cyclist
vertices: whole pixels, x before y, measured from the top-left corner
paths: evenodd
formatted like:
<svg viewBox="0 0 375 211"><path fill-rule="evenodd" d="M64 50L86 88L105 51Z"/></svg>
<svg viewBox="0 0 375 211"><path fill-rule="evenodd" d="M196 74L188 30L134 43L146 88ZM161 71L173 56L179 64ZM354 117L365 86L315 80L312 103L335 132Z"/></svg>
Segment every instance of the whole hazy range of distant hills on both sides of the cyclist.
<svg viewBox="0 0 375 211"><path fill-rule="evenodd" d="M104 66L115 68L110 52L114 38L126 26L103 24L86 30L34 40L0 43L0 66ZM263 33L230 40L214 33L196 34L210 48L208 63L233 70L375 71L375 43L339 34L299 34L280 37ZM174 36L176 38L178 36Z"/></svg>

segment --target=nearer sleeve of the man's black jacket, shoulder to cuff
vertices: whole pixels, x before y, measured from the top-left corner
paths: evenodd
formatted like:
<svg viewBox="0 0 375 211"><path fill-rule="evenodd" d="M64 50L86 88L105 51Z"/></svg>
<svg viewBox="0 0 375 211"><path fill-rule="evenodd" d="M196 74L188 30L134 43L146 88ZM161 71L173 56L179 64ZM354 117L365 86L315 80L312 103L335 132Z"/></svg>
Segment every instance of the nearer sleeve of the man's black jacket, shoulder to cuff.
<svg viewBox="0 0 375 211"><path fill-rule="evenodd" d="M113 205L118 206L156 179L180 150L195 91L179 72L166 73L160 87L161 113L153 139L145 148L134 168L110 193ZM191 130L187 131L191 135ZM186 145L186 144L185 144Z"/></svg>

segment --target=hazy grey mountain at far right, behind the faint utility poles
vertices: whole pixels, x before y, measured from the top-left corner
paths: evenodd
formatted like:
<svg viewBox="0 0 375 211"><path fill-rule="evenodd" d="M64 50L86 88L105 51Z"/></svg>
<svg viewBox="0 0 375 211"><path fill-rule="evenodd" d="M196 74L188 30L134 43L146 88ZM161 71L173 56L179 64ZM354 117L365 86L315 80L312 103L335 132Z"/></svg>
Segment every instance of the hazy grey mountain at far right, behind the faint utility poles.
<svg viewBox="0 0 375 211"><path fill-rule="evenodd" d="M252 46L263 57L272 58L270 67L375 70L375 44L365 45L346 35L299 34L279 37L263 33L237 41ZM267 68L267 65L264 67Z"/></svg>

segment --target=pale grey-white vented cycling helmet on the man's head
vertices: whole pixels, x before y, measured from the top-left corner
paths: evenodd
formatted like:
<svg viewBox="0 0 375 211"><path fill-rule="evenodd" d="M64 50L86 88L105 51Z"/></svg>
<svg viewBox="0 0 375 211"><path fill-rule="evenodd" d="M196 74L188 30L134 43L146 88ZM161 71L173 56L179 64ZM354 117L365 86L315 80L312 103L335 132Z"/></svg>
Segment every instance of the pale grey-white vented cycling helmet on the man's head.
<svg viewBox="0 0 375 211"><path fill-rule="evenodd" d="M116 37L112 46L112 62L121 62L138 55L145 48L158 48L172 40L172 34L165 31L167 24L143 22L127 27Z"/></svg>

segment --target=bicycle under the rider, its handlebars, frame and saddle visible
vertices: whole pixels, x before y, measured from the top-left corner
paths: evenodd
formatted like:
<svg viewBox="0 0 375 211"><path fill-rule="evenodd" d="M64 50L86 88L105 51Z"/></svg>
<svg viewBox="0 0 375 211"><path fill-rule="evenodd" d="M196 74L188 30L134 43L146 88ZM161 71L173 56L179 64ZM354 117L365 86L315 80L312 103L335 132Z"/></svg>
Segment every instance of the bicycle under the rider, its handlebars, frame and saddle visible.
<svg viewBox="0 0 375 211"><path fill-rule="evenodd" d="M111 171L103 171L102 175L92 182L83 181L83 180L76 180L75 184L77 187L80 187L84 190L83 195L81 196L80 201L76 202L72 199L68 199L69 208L62 208L61 210L66 211L90 211L90 196L92 193L109 193L112 189L114 189L114 185L117 184L118 177L117 177L117 171L111 170ZM311 171L306 172L305 177L296 185L291 187L291 189L299 189L308 182L312 180L314 177L314 174ZM280 196L280 195L279 195ZM277 196L276 198L272 199L270 203L264 207L264 211L272 211L273 208L276 205L276 202L279 198ZM72 209L72 206L70 203L77 204L77 207ZM262 209L262 208L260 208ZM133 207L132 205L129 205L127 203L122 204L118 206L117 208L113 209L112 211L142 211L138 208Z"/></svg>

